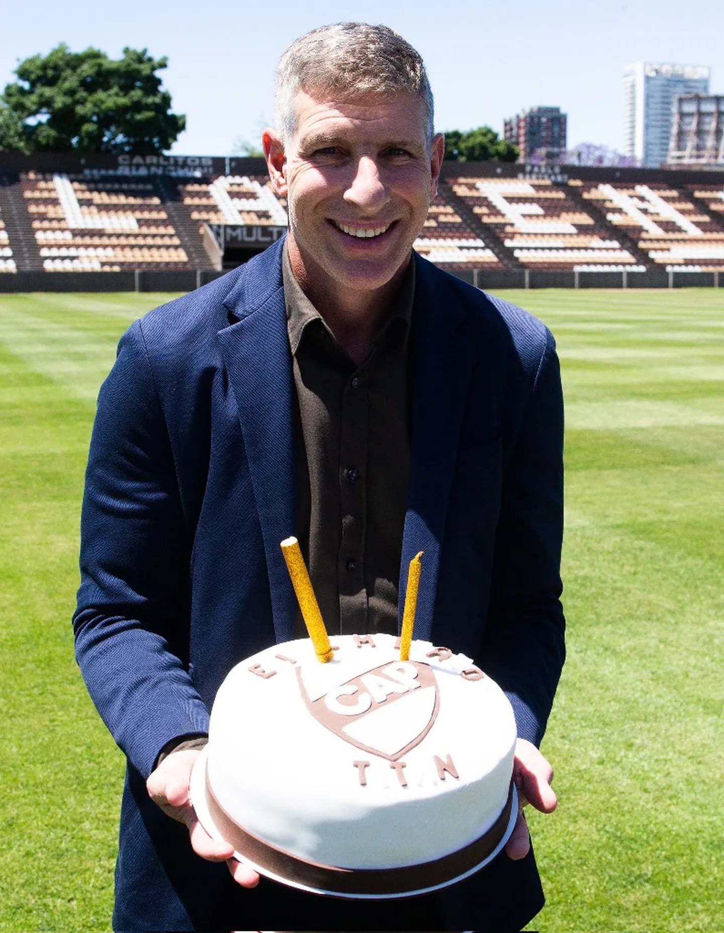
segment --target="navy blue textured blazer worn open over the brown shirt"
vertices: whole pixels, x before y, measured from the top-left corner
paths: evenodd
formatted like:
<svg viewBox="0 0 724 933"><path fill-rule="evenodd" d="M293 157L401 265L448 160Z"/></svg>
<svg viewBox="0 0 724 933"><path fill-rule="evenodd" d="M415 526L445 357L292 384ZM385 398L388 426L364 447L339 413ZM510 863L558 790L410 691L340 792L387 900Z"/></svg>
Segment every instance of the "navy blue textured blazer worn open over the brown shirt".
<svg viewBox="0 0 724 933"><path fill-rule="evenodd" d="M296 530L297 478L281 257L280 242L136 321L98 397L74 629L91 697L128 759L118 930L208 929L225 897L244 912L230 918L235 928L299 929L271 912L287 896L301 898L296 917L302 901L313 903L307 928L365 928L327 913L350 902L266 880L255 892L233 888L226 867L195 856L186 829L145 787L163 745L207 730L230 667L293 634L295 596L279 547ZM415 636L473 657L508 692L519 734L537 744L564 661L555 344L521 309L414 261L400 592L411 557L424 550ZM520 907L522 885L533 891L523 912L535 914L535 862L523 862L527 874L500 856L494 871L456 885L455 910L467 903L464 888L473 912L480 898L492 911L508 888L504 899L517 891ZM258 914L246 913L251 904ZM451 910L445 923L480 928L473 914L446 919ZM376 928L409 928L400 922Z"/></svg>

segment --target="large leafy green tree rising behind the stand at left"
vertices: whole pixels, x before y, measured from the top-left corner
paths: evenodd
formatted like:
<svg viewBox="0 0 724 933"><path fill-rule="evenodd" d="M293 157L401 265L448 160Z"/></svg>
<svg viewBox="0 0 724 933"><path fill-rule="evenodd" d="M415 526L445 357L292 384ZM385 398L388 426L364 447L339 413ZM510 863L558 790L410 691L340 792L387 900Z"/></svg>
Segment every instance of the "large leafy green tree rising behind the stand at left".
<svg viewBox="0 0 724 933"><path fill-rule="evenodd" d="M186 128L156 75L166 65L146 49L114 61L63 44L25 59L0 96L0 150L164 152Z"/></svg>

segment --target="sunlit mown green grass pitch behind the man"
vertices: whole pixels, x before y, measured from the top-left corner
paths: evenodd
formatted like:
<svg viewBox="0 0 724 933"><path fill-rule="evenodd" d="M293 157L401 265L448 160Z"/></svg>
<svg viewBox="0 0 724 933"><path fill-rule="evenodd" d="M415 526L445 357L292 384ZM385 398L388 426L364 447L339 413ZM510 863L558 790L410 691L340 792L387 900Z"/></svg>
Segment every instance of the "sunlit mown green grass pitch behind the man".
<svg viewBox="0 0 724 933"><path fill-rule="evenodd" d="M564 931L721 930L724 289L501 293L556 334L568 661L533 815ZM123 761L73 659L94 399L167 296L0 296L0 930L106 930Z"/></svg>

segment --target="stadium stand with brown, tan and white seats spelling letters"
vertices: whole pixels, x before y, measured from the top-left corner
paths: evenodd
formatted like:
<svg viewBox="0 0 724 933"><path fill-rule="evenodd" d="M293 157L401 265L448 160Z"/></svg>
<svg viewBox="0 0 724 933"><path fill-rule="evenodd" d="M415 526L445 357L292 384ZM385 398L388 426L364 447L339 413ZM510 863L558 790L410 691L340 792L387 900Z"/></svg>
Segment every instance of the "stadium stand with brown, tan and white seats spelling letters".
<svg viewBox="0 0 724 933"><path fill-rule="evenodd" d="M245 261L286 224L263 160L0 153L0 272L18 281L132 272L138 287L139 273L183 273L188 287L188 276L198 284ZM415 248L501 287L532 275L536 284L548 275L578 285L582 275L671 285L674 272L680 283L706 273L699 281L717 285L724 174L445 162Z"/></svg>

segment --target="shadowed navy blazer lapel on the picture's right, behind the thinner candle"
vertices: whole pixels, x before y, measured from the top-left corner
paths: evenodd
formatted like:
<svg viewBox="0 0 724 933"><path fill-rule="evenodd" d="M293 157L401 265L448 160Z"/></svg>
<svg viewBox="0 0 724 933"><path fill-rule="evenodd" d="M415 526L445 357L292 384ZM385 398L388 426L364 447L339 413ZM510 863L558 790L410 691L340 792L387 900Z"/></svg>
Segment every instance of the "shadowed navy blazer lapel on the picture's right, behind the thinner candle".
<svg viewBox="0 0 724 933"><path fill-rule="evenodd" d="M416 256L415 261L411 476L402 539L398 624L401 627L410 561L422 550L414 637L428 641L473 349L462 327L459 302L451 296L445 278Z"/></svg>

